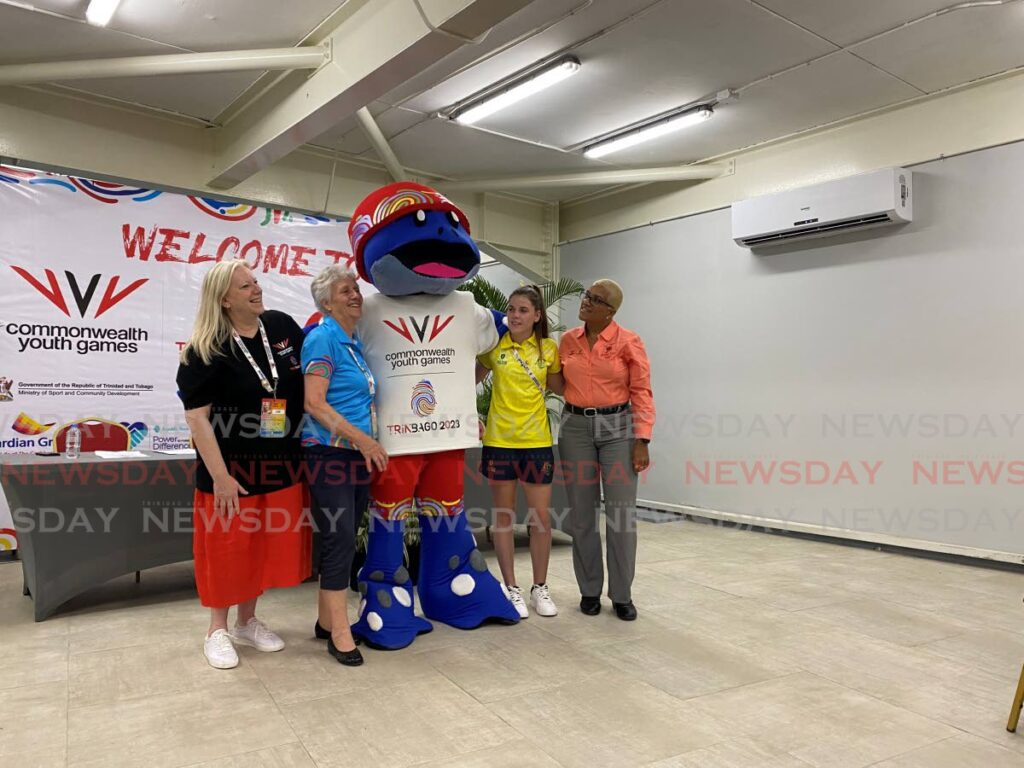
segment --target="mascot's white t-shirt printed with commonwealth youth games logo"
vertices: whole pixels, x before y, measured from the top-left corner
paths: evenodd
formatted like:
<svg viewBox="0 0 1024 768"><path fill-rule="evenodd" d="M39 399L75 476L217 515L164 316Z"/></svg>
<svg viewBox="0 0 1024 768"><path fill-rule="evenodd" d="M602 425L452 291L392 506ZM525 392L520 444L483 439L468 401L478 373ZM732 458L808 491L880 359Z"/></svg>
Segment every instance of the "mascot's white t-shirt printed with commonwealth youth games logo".
<svg viewBox="0 0 1024 768"><path fill-rule="evenodd" d="M476 355L495 347L498 331L472 294L373 294L358 333L377 379L378 439L389 456L479 444Z"/></svg>

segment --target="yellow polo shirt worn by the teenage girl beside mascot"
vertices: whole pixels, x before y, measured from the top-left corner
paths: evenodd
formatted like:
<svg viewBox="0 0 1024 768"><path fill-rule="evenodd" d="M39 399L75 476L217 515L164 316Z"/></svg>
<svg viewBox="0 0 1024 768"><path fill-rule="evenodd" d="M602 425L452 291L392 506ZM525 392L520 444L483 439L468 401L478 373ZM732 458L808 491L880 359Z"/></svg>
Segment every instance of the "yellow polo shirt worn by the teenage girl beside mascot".
<svg viewBox="0 0 1024 768"><path fill-rule="evenodd" d="M552 339L544 339L538 347L536 336L519 344L506 333L498 346L480 355L480 365L494 374L483 444L510 449L548 447L551 445L551 426L545 392L512 354L513 349L545 389L548 373L557 374L562 370L558 345Z"/></svg>

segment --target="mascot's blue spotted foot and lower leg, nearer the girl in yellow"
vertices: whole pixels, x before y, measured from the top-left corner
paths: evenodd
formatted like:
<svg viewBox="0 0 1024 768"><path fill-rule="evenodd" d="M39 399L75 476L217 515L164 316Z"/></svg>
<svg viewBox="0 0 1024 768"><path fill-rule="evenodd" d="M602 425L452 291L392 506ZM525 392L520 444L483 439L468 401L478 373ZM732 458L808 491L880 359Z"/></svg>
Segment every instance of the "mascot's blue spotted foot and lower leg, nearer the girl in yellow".
<svg viewBox="0 0 1024 768"><path fill-rule="evenodd" d="M486 622L516 624L519 614L483 555L462 512L420 516L420 604L424 615L471 630Z"/></svg>

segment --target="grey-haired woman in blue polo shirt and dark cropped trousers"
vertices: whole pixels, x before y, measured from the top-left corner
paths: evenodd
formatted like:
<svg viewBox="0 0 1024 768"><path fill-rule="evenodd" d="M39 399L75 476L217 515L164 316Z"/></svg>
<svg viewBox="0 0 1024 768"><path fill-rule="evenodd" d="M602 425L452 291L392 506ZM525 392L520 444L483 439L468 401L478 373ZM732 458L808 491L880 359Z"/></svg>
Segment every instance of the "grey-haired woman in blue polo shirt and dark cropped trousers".
<svg viewBox="0 0 1024 768"><path fill-rule="evenodd" d="M313 520L321 535L316 637L348 667L362 655L348 625L348 583L355 529L370 498L370 473L383 471L387 455L377 442L377 385L355 324L362 314L356 276L340 266L324 269L310 288L324 322L302 345L305 407L302 430Z"/></svg>

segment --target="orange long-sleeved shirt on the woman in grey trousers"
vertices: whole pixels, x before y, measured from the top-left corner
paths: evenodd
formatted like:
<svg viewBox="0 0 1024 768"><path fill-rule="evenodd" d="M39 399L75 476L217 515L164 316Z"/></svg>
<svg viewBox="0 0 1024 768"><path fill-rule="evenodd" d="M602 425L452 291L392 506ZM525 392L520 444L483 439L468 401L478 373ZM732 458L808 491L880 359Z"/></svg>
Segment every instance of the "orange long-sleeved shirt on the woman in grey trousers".
<svg viewBox="0 0 1024 768"><path fill-rule="evenodd" d="M562 334L558 353L565 376L565 401L578 408L633 403L633 430L650 439L654 428L654 395L650 364L640 337L612 322L591 349L585 326Z"/></svg>

